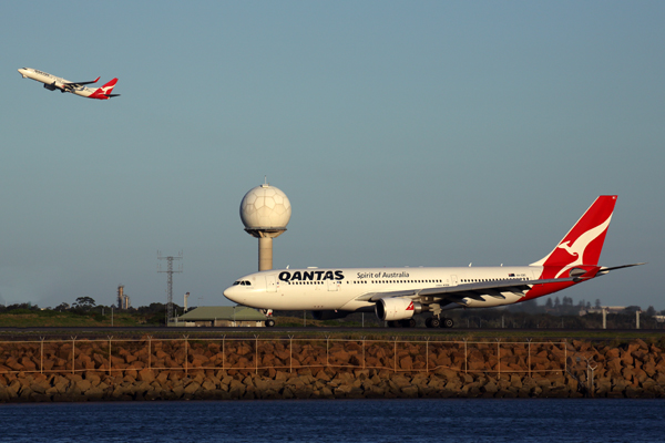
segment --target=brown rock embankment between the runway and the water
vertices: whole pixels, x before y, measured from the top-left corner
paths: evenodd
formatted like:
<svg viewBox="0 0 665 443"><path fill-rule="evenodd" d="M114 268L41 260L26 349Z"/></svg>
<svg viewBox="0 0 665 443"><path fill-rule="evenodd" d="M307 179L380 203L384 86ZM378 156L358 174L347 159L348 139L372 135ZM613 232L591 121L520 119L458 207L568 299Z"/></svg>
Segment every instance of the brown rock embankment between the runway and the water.
<svg viewBox="0 0 665 443"><path fill-rule="evenodd" d="M665 396L665 356L642 340L0 343L0 402L585 395Z"/></svg>

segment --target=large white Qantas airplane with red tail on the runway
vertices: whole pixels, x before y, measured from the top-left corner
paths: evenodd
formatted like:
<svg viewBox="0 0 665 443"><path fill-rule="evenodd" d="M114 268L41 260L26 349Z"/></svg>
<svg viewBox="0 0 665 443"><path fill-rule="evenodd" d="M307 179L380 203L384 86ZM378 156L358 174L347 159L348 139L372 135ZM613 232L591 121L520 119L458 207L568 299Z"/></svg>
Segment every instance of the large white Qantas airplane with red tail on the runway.
<svg viewBox="0 0 665 443"><path fill-rule="evenodd" d="M239 278L224 296L266 312L311 310L325 320L375 311L390 327L412 328L415 315L429 312L428 328L451 328L446 310L518 303L644 265L598 266L615 203L615 195L596 198L554 250L529 266L266 270Z"/></svg>

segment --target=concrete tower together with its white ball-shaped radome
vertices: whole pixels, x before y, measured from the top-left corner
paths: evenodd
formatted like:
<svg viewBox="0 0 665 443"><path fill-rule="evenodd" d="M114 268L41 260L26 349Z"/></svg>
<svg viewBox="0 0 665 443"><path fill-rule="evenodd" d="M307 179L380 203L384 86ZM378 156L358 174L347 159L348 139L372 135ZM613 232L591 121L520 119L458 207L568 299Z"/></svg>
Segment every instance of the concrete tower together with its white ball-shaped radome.
<svg viewBox="0 0 665 443"><path fill-rule="evenodd" d="M241 203L245 231L258 238L258 270L273 269L273 238L286 230L290 202L286 194L265 183L249 189Z"/></svg>

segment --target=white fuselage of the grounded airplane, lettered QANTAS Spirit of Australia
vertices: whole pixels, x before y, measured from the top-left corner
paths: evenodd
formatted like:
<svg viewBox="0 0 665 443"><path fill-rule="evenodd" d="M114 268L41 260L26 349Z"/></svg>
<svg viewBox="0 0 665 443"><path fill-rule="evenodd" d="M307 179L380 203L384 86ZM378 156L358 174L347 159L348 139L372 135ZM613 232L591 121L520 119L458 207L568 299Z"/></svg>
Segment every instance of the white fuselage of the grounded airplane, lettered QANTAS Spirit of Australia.
<svg viewBox="0 0 665 443"><path fill-rule="evenodd" d="M242 277L224 291L237 303L280 310L371 310L376 302L365 295L461 287L490 281L538 280L542 266L456 267L456 268L336 268L279 269ZM539 285L525 292L500 291L503 297L461 297L451 308L485 308L511 305L567 288L575 282ZM408 296L407 296L408 297Z"/></svg>

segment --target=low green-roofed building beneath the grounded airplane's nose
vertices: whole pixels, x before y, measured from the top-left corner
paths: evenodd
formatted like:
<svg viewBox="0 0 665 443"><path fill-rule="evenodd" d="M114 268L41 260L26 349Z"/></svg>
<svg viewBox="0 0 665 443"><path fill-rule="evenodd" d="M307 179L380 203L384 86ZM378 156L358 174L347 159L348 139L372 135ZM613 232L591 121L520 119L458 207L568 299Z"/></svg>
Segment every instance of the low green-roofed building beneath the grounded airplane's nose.
<svg viewBox="0 0 665 443"><path fill-rule="evenodd" d="M266 316L246 306L202 306L174 319L173 327L264 327Z"/></svg>

